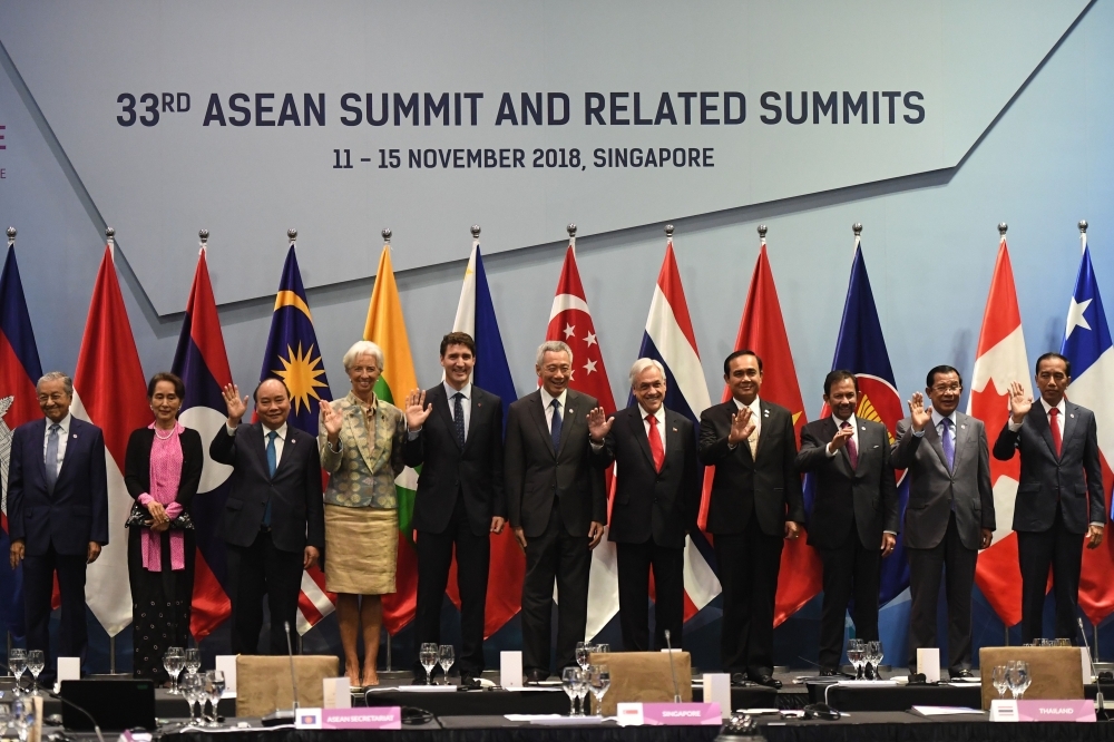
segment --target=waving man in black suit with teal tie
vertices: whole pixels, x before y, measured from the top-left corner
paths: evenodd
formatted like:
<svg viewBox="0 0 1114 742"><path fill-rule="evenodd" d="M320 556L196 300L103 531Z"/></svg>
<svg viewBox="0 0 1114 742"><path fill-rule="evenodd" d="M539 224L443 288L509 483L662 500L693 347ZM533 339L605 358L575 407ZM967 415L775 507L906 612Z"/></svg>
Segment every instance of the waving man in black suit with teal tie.
<svg viewBox="0 0 1114 742"><path fill-rule="evenodd" d="M321 556L325 516L321 459L310 433L286 424L290 391L278 379L255 388L260 421L241 424L247 398L224 388L228 422L209 445L209 457L233 468L219 535L228 546L232 653L257 654L263 596L271 609L271 654L286 654L294 631L302 570Z"/></svg>

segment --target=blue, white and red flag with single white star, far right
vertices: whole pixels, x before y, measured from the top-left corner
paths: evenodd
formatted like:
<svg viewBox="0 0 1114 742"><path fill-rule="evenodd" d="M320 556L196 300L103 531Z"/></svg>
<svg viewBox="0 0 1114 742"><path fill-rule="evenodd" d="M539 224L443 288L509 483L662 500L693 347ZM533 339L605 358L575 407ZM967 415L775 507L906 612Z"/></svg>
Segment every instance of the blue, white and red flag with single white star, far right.
<svg viewBox="0 0 1114 742"><path fill-rule="evenodd" d="M1103 467L1106 512L1111 511L1111 455L1114 453L1114 343L1111 342L1106 312L1098 295L1098 282L1087 248L1087 223L1079 223L1083 258L1075 280L1075 292L1067 307L1067 326L1059 352L1072 364L1072 384L1067 394L1076 404L1095 413L1098 424L1098 458ZM1094 515L1094 514L1092 514ZM1089 520L1100 521L1092 517ZM1092 624L1098 625L1114 611L1114 539L1103 539L1097 549L1083 549L1079 575L1079 607Z"/></svg>

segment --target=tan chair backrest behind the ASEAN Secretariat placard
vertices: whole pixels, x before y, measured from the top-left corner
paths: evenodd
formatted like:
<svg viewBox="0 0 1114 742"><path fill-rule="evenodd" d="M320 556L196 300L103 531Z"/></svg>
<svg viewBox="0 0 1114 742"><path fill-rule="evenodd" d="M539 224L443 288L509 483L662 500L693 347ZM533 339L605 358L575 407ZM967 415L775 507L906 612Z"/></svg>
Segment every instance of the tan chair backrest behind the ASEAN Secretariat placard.
<svg viewBox="0 0 1114 742"><path fill-rule="evenodd" d="M297 703L304 707L324 705L322 678L335 677L340 660L326 655L294 657ZM236 657L236 715L264 716L278 709L292 709L290 657L242 654Z"/></svg>

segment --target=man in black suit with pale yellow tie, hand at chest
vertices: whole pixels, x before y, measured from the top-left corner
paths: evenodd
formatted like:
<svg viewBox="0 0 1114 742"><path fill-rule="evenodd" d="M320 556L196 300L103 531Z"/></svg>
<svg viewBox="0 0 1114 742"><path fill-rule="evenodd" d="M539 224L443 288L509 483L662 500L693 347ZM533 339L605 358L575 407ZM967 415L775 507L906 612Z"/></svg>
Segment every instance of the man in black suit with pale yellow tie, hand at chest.
<svg viewBox="0 0 1114 742"><path fill-rule="evenodd" d="M707 530L723 587L721 661L733 682L745 673L776 689L773 608L781 549L804 523L793 416L759 399L762 359L754 351L729 355L723 380L732 399L700 417L700 460L715 467Z"/></svg>

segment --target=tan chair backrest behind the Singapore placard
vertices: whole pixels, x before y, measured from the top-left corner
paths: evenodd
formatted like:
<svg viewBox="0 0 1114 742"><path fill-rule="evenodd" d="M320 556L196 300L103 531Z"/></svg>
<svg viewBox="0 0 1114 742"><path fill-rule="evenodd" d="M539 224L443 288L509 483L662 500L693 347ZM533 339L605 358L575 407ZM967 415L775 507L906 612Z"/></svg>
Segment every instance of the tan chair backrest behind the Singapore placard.
<svg viewBox="0 0 1114 742"><path fill-rule="evenodd" d="M665 652L593 652L592 664L607 665L612 685L604 695L603 713L615 715L615 704L628 702L662 703L673 701L673 676L670 657ZM687 652L673 653L673 667L677 675L677 690L682 701L693 700L692 656ZM595 706L595 699L593 699Z"/></svg>

